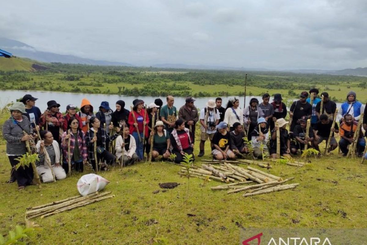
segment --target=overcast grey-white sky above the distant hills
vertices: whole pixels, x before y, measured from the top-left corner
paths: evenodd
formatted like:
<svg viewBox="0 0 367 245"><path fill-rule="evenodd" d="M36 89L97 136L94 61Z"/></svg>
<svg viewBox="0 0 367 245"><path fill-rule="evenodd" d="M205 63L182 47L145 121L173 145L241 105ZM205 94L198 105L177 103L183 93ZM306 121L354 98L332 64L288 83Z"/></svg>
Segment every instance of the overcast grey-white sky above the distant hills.
<svg viewBox="0 0 367 245"><path fill-rule="evenodd" d="M367 66L367 1L9 0L0 35L135 65Z"/></svg>

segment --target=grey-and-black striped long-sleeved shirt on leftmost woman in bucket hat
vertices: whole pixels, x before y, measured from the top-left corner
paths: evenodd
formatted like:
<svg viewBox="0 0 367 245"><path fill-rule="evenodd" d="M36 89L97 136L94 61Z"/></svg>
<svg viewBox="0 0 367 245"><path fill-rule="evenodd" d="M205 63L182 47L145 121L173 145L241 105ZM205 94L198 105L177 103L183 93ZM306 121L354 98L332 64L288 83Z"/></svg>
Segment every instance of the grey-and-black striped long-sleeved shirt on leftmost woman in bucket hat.
<svg viewBox="0 0 367 245"><path fill-rule="evenodd" d="M25 141L21 141L24 136L23 130L28 134L33 134L32 127L26 116L22 115L22 121L16 121L9 118L3 125L3 138L6 140L6 154L23 155L27 152Z"/></svg>

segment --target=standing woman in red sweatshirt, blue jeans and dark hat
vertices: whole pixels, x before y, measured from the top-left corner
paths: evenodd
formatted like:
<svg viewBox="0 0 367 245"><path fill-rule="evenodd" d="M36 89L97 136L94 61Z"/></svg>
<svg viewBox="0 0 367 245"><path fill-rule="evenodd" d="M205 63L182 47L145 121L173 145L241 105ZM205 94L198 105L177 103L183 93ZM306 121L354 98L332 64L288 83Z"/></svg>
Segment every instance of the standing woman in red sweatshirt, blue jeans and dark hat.
<svg viewBox="0 0 367 245"><path fill-rule="evenodd" d="M130 134L135 138L135 142L137 144L136 153L138 154L139 161L142 161L144 158L144 146L143 146L143 138L148 138L148 123L149 117L144 109L144 101L142 100L134 100L132 101L134 107L129 114L128 124L130 126ZM132 114L134 113L136 122ZM144 121L145 117L145 121ZM145 127L145 135L143 135L143 128ZM140 138L139 138L139 134Z"/></svg>

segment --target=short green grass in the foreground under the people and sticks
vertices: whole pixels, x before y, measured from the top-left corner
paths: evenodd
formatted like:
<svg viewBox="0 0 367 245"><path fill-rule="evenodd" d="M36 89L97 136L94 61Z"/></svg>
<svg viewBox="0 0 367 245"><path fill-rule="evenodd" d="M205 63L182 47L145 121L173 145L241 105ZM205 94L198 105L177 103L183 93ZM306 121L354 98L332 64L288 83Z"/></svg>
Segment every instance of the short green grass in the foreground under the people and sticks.
<svg viewBox="0 0 367 245"><path fill-rule="evenodd" d="M207 143L201 159L209 159L209 152ZM188 184L177 174L180 166L173 163L116 167L99 173L110 181L104 191L112 191L114 198L34 219L40 229L32 233L29 244L239 244L242 227L364 228L367 166L360 159L333 153L310 158L301 168L272 163L273 168L265 171L283 179L294 176L290 183L300 185L246 198L241 192L228 195L226 190L210 190L221 184L217 181L190 178ZM17 191L17 184L5 184L10 164L4 145L0 162L1 234L16 224L24 226L27 207L78 195L80 173ZM86 169L83 174L90 172ZM180 185L162 192L158 184L164 182ZM155 190L160 192L153 194Z"/></svg>

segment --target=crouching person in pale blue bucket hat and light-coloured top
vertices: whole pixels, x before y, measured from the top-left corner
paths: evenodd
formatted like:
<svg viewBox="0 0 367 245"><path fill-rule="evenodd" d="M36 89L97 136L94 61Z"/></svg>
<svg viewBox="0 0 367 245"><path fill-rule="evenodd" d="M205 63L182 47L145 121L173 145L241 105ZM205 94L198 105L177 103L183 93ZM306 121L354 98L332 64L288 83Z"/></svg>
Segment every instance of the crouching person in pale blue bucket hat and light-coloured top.
<svg viewBox="0 0 367 245"><path fill-rule="evenodd" d="M267 157L269 156L269 149L268 149L269 129L267 128L265 118L257 119L257 125L258 126L255 127L255 129L252 130L252 132L250 133L252 149L254 151L253 154L255 158L262 158L264 152L264 156Z"/></svg>

